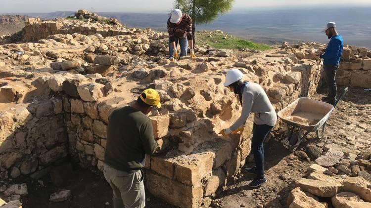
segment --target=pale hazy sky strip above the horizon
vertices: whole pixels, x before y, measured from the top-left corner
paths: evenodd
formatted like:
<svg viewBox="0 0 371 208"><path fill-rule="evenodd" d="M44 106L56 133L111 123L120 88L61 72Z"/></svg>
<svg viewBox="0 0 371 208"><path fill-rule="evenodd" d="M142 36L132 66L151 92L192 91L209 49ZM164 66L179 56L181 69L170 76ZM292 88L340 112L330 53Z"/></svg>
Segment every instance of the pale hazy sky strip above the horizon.
<svg viewBox="0 0 371 208"><path fill-rule="evenodd" d="M0 0L0 13L76 11L164 12L173 7L174 0ZM328 4L359 6L371 0L235 0L233 8L264 8L286 6L318 6Z"/></svg>

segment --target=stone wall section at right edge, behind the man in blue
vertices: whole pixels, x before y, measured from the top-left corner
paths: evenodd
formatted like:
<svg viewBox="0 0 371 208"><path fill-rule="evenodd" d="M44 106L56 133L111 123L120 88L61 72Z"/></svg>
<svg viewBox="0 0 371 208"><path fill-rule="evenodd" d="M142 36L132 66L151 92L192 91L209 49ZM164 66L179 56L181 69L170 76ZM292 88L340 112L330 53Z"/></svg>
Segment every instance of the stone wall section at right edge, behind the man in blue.
<svg viewBox="0 0 371 208"><path fill-rule="evenodd" d="M344 86L371 87L371 51L344 47L336 82Z"/></svg>

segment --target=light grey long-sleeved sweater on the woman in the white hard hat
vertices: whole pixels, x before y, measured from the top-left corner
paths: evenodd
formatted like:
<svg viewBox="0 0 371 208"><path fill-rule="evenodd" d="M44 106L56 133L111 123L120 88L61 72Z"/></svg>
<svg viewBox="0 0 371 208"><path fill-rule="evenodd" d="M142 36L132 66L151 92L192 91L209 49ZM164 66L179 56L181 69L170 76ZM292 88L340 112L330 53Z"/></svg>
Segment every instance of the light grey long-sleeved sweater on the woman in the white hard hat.
<svg viewBox="0 0 371 208"><path fill-rule="evenodd" d="M276 111L264 89L257 83L248 83L242 92L242 113L239 119L231 125L231 131L246 123L250 112L255 113L254 123L257 125L274 126L277 123Z"/></svg>

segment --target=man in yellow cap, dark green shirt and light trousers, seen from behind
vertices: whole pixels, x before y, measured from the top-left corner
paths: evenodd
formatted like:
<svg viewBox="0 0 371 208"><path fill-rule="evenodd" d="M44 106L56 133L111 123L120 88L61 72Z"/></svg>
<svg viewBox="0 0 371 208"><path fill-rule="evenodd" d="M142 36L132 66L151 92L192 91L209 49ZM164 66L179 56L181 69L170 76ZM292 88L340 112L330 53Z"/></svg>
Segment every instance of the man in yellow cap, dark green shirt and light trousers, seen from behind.
<svg viewBox="0 0 371 208"><path fill-rule="evenodd" d="M152 155L157 143L152 123L146 116L160 108L160 96L146 89L130 106L114 110L108 121L104 155L104 177L113 189L114 208L144 208L143 171L145 155Z"/></svg>

